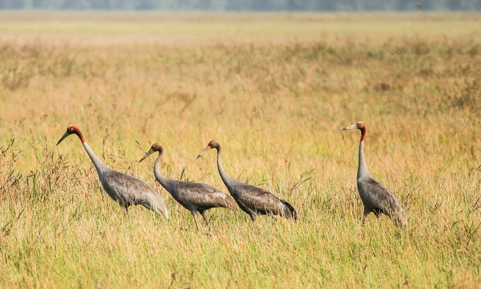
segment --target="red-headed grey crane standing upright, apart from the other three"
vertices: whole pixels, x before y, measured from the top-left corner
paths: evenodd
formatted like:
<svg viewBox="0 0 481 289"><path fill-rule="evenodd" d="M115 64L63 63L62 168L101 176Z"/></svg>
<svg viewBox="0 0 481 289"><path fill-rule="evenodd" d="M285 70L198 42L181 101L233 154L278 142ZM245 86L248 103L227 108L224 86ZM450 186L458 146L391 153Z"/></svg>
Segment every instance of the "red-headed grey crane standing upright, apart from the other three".
<svg viewBox="0 0 481 289"><path fill-rule="evenodd" d="M364 158L364 137L366 136L366 125L359 121L349 125L342 130L361 130L361 142L359 142L359 166L357 168L357 189L364 204L364 218L373 212L376 216L383 213L393 219L395 225L402 229L407 226L406 212L399 204L398 198L391 193L386 186L376 181L367 169ZM341 130L341 131L342 131ZM364 219L363 219L364 222Z"/></svg>

